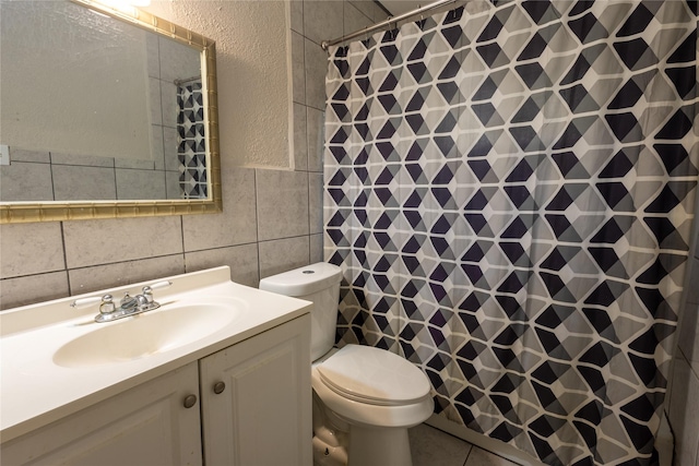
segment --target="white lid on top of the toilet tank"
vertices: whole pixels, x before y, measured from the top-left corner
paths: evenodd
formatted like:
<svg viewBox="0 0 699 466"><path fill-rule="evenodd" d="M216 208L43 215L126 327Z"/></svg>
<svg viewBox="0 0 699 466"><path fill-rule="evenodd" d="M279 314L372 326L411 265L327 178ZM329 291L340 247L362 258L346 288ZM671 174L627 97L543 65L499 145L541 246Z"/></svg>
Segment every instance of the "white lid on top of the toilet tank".
<svg viewBox="0 0 699 466"><path fill-rule="evenodd" d="M318 262L260 280L260 289L285 296L306 296L329 288L342 279L342 270Z"/></svg>

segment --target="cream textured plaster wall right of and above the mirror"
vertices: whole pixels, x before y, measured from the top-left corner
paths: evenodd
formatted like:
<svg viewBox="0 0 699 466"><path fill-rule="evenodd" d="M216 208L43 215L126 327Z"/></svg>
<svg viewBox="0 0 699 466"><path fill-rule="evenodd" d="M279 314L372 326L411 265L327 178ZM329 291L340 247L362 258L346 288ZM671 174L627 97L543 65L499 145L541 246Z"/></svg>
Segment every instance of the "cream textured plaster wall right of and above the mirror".
<svg viewBox="0 0 699 466"><path fill-rule="evenodd" d="M285 2L155 1L146 10L216 41L221 145L234 148L227 162L289 168Z"/></svg>

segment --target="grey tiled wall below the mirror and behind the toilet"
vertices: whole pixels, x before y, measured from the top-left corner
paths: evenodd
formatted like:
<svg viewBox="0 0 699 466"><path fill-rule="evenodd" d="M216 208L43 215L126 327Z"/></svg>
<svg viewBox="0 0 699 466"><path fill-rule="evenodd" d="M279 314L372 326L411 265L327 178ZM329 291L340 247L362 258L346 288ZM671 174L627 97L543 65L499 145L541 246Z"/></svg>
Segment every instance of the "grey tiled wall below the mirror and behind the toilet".
<svg viewBox="0 0 699 466"><path fill-rule="evenodd" d="M0 309L217 265L257 286L321 261L320 43L386 16L372 1L292 0L294 170L236 167L236 148L222 146L223 214L2 225Z"/></svg>

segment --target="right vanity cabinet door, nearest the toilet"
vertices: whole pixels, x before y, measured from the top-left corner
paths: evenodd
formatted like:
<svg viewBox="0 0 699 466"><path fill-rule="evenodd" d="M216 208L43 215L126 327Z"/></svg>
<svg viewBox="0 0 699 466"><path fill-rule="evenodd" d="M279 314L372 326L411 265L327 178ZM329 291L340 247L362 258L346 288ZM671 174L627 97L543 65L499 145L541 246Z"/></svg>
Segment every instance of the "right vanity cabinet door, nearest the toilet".
<svg viewBox="0 0 699 466"><path fill-rule="evenodd" d="M312 463L308 314L201 359L199 370L206 466Z"/></svg>

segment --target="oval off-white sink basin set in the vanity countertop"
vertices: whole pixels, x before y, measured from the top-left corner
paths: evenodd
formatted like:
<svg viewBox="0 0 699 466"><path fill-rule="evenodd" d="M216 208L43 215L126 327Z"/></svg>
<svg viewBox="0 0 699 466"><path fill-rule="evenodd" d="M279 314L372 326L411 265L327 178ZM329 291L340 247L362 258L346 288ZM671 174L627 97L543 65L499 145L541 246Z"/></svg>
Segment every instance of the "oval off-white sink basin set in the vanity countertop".
<svg viewBox="0 0 699 466"><path fill-rule="evenodd" d="M206 337L240 313L235 306L191 304L96 323L94 331L61 346L54 362L81 368L132 361Z"/></svg>

